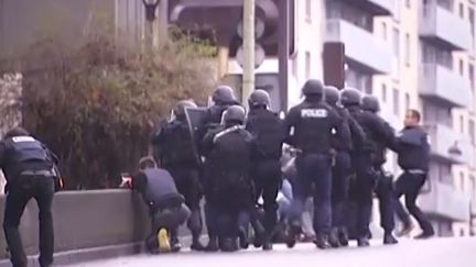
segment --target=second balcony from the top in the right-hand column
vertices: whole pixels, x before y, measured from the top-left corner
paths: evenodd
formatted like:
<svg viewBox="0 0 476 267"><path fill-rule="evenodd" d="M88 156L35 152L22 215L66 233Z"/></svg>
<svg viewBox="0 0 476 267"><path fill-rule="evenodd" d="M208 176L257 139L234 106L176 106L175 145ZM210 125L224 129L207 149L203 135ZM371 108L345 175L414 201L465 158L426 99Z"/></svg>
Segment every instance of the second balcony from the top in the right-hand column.
<svg viewBox="0 0 476 267"><path fill-rule="evenodd" d="M469 107L473 93L469 79L437 64L423 64L420 69L420 94L443 105Z"/></svg>

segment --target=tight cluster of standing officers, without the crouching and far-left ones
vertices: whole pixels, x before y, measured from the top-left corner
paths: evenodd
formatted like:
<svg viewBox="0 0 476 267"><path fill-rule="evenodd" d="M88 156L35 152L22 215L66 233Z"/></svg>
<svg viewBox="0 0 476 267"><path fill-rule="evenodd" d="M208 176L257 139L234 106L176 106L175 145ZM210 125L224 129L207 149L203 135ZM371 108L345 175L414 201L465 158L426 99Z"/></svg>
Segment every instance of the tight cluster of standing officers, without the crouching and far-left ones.
<svg viewBox="0 0 476 267"><path fill-rule="evenodd" d="M378 115L379 103L372 96L351 88L339 91L320 80L306 81L302 93L304 100L280 119L269 109L267 91L251 93L247 112L231 88L219 86L212 94L213 104L195 123L198 127L187 116L196 104L183 100L173 110L175 119L153 135L154 159L171 174L190 208L192 249L246 248L249 225L255 246L272 249L283 145L295 153L296 168L296 176L290 179L293 199L285 214L288 246L294 246L302 233L309 197L313 198L314 243L318 248L347 246L349 238L358 246L368 246L374 194L379 200L383 244L398 243L393 236L396 214L403 224L400 235L413 229L398 201L403 194L407 210L423 230L418 237L432 236L431 223L415 205L430 160L429 137L419 126L420 113L408 111L405 127L396 135ZM387 149L398 154L403 169L396 183L382 169ZM209 237L206 246L199 241L202 197ZM257 205L259 198L263 215ZM180 247L176 231L169 232L171 246Z"/></svg>

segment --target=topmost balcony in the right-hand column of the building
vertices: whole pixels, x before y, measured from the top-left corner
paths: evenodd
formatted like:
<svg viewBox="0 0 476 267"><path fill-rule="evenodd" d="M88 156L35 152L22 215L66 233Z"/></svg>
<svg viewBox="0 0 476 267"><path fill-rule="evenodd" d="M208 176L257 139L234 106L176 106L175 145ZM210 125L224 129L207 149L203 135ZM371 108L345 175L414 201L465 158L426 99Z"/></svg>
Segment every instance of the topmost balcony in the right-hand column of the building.
<svg viewBox="0 0 476 267"><path fill-rule="evenodd" d="M430 4L422 9L420 16L420 36L435 42L448 49L470 49L472 34L469 21L461 19L457 14Z"/></svg>

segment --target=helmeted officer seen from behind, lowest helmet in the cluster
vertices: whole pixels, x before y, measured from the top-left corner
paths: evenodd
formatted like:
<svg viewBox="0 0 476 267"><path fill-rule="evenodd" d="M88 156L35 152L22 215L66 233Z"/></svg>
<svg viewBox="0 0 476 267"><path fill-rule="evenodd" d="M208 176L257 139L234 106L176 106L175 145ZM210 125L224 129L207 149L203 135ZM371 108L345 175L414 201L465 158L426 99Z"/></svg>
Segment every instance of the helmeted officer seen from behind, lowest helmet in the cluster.
<svg viewBox="0 0 476 267"><path fill-rule="evenodd" d="M223 125L207 133L203 149L207 157L207 205L215 212L219 248L238 249L237 238L246 231L247 222L240 214L255 204L251 160L255 153L252 135L245 130L245 109L229 107L223 115ZM241 223L244 222L244 223Z"/></svg>

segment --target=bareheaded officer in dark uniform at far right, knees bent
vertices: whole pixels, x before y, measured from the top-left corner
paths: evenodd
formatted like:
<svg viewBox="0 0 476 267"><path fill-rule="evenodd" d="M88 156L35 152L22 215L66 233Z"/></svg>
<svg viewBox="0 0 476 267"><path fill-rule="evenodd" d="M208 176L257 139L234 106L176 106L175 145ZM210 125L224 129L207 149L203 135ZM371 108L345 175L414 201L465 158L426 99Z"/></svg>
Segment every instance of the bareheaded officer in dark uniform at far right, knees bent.
<svg viewBox="0 0 476 267"><path fill-rule="evenodd" d="M434 230L425 214L418 208L416 198L421 188L426 182L430 165L430 140L426 132L420 126L420 112L409 110L405 114L404 129L399 133L396 149L398 164L403 174L396 182L396 212L403 222L400 235L411 232L413 225L410 215L399 201L405 197L408 211L416 219L423 233L415 238L428 238L434 235Z"/></svg>

